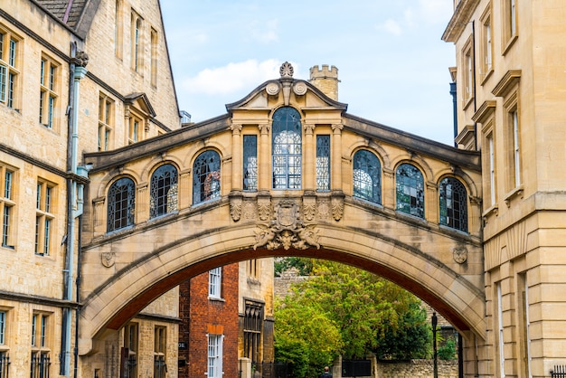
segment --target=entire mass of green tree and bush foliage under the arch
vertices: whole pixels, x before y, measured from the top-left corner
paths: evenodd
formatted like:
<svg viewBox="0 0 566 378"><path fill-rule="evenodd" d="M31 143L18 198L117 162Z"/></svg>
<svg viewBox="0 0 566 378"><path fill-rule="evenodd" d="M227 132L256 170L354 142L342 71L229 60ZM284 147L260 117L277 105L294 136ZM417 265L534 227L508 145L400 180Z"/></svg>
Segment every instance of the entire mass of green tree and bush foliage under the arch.
<svg viewBox="0 0 566 378"><path fill-rule="evenodd" d="M307 364L316 368L337 354L426 356L430 330L418 298L363 269L327 260L312 264L312 276L277 304L276 350L289 340L307 341Z"/></svg>

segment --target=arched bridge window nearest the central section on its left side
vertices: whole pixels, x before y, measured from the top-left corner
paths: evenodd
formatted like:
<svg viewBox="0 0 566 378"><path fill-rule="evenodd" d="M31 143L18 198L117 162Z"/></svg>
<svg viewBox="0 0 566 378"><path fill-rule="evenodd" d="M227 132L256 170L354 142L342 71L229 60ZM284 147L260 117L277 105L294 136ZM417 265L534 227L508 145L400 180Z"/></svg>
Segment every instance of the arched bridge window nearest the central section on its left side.
<svg viewBox="0 0 566 378"><path fill-rule="evenodd" d="M193 203L202 203L220 197L220 156L215 151L204 151L194 160Z"/></svg>

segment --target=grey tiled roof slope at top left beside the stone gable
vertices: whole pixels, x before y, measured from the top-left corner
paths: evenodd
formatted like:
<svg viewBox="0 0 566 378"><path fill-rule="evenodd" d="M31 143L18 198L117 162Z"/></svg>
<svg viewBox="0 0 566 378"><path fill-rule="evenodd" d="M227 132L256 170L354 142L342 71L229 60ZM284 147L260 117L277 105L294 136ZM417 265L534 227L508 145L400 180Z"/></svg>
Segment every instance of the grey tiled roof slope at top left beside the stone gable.
<svg viewBox="0 0 566 378"><path fill-rule="evenodd" d="M100 0L32 0L61 24L85 38Z"/></svg>

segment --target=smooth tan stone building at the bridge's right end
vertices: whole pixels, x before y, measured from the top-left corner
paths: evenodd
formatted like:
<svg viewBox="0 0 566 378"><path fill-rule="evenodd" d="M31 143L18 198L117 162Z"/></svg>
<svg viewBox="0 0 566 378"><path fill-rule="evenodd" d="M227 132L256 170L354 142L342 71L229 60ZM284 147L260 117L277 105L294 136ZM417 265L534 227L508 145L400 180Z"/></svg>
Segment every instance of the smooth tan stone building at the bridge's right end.
<svg viewBox="0 0 566 378"><path fill-rule="evenodd" d="M566 4L456 0L462 149L481 151L486 340L476 374L549 376L566 364Z"/></svg>

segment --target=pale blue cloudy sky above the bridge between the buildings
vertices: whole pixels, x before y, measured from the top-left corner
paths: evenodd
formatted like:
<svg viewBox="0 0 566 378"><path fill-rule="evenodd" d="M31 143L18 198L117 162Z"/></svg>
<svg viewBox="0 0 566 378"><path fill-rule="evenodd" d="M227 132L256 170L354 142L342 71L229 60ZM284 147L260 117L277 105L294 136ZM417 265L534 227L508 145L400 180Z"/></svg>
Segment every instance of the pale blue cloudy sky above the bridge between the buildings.
<svg viewBox="0 0 566 378"><path fill-rule="evenodd" d="M338 68L348 113L453 144L440 37L453 0L162 0L179 106L193 122L226 113L289 61L296 79Z"/></svg>

